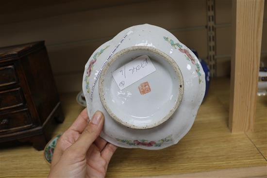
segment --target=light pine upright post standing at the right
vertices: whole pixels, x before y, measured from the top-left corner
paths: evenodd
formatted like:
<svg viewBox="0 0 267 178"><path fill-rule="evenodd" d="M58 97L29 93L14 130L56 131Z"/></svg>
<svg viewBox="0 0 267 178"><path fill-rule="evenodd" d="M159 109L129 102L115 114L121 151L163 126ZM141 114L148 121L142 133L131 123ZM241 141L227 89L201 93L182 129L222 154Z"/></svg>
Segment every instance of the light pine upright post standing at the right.
<svg viewBox="0 0 267 178"><path fill-rule="evenodd" d="M231 61L231 131L252 131L261 56L264 0L233 1L233 60Z"/></svg>

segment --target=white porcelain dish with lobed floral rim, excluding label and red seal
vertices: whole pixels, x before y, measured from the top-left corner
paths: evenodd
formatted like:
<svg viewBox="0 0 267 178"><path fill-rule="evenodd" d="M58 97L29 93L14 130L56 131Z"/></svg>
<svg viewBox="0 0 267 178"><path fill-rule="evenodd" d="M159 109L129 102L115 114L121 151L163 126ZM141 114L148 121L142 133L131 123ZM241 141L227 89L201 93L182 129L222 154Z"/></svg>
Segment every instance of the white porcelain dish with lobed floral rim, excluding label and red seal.
<svg viewBox="0 0 267 178"><path fill-rule="evenodd" d="M156 71L119 90L112 73L141 55L150 57ZM148 93L141 94L143 83L149 83ZM192 127L204 93L205 74L194 53L170 32L149 24L127 28L101 45L83 74L89 117L97 110L105 115L100 136L126 148L178 143Z"/></svg>

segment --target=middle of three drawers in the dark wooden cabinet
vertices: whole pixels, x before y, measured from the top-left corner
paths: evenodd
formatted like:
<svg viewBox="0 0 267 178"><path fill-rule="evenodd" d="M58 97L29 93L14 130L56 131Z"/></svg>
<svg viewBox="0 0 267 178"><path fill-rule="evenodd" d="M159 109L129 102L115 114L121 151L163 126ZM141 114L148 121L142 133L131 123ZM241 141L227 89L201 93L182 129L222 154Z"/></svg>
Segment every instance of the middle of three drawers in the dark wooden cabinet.
<svg viewBox="0 0 267 178"><path fill-rule="evenodd" d="M15 108L24 104L21 88L0 91L0 110Z"/></svg>

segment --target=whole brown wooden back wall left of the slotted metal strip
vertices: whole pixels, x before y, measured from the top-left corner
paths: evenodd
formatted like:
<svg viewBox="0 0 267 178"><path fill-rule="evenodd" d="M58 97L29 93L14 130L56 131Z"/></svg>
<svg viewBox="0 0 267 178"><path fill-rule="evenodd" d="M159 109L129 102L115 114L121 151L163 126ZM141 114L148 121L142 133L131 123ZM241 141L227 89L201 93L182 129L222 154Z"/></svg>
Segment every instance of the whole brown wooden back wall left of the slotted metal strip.
<svg viewBox="0 0 267 178"><path fill-rule="evenodd" d="M100 9L92 9L84 0L60 2L63 3L14 11L13 16L0 13L0 47L45 40L60 92L81 90L83 67L92 52L136 24L161 26L185 45L197 49L201 58L207 56L205 0L137 0ZM17 19L16 12L21 15ZM30 16L31 13L37 16Z"/></svg>

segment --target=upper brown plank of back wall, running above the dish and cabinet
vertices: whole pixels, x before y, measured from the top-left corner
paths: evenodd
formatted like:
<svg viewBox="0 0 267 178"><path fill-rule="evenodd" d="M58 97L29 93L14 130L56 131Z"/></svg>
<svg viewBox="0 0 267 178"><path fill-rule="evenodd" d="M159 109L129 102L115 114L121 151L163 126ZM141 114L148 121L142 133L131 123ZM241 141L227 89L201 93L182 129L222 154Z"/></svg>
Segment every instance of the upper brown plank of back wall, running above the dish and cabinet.
<svg viewBox="0 0 267 178"><path fill-rule="evenodd" d="M0 46L40 39L46 40L47 45L59 45L111 37L143 23L169 30L205 26L205 1L148 1L5 24L0 28L0 34L5 34L0 38Z"/></svg>

